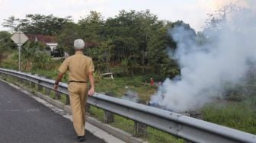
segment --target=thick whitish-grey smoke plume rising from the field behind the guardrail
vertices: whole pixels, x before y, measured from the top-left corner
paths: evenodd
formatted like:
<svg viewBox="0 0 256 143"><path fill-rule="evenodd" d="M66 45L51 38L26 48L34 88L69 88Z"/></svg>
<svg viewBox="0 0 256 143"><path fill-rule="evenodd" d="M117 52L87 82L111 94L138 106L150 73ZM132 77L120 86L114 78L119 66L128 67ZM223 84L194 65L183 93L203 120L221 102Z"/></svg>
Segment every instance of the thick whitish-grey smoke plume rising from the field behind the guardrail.
<svg viewBox="0 0 256 143"><path fill-rule="evenodd" d="M256 64L254 8L227 10L226 21L219 22L219 28L204 31L203 44L198 44L194 33L183 26L170 30L178 46L172 57L181 67L181 79L167 78L151 103L176 112L197 110L219 97L223 85L241 83L250 66Z"/></svg>

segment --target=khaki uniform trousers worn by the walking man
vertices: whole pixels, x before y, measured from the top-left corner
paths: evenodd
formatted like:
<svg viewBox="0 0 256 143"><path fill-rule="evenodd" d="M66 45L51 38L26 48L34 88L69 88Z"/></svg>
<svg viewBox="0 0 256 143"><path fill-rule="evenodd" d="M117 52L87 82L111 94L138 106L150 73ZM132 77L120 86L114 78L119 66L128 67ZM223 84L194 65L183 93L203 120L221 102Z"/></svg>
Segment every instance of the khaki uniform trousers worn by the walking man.
<svg viewBox="0 0 256 143"><path fill-rule="evenodd" d="M73 126L78 136L85 135L85 105L88 94L86 83L69 83L69 99Z"/></svg>

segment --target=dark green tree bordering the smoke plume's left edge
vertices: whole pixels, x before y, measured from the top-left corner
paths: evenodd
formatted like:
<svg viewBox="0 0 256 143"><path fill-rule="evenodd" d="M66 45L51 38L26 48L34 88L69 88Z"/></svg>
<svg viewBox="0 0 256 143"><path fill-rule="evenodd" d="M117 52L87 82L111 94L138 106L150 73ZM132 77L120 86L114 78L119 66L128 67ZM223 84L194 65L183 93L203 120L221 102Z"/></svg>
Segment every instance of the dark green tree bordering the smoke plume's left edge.
<svg viewBox="0 0 256 143"><path fill-rule="evenodd" d="M176 49L176 43L172 40L168 31L181 24L194 31L182 21L167 22L167 24L162 23L162 26L149 39L149 65L157 69L155 73L162 75L163 78L166 76L172 78L180 73L178 63L170 57L170 52Z"/></svg>

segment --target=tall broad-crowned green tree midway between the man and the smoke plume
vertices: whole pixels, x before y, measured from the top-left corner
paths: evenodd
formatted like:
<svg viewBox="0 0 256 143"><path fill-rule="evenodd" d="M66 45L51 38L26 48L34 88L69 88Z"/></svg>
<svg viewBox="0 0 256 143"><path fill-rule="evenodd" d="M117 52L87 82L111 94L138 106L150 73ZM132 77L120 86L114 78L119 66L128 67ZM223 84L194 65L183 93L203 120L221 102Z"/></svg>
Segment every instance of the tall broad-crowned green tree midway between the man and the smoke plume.
<svg viewBox="0 0 256 143"><path fill-rule="evenodd" d="M115 18L108 18L104 37L110 37L114 41L115 60L132 60L142 67L146 65L147 44L156 25L157 17L150 11L122 10Z"/></svg>

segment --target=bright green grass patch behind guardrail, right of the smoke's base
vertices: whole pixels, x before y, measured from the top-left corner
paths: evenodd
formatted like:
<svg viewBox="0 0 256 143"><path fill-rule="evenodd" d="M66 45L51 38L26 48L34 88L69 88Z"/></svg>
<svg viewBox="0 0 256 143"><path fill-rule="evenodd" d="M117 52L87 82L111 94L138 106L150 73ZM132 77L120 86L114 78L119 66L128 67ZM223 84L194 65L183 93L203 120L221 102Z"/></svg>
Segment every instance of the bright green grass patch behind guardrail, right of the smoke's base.
<svg viewBox="0 0 256 143"><path fill-rule="evenodd" d="M202 110L203 120L256 134L256 110L247 100L213 103Z"/></svg>

